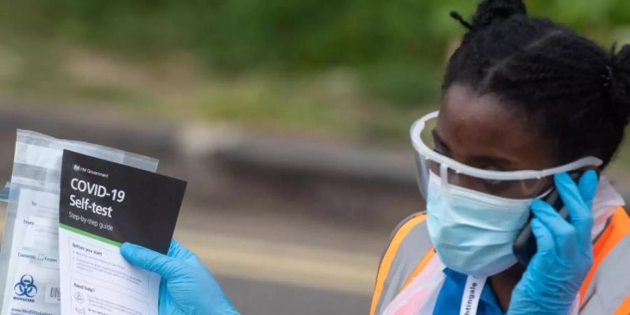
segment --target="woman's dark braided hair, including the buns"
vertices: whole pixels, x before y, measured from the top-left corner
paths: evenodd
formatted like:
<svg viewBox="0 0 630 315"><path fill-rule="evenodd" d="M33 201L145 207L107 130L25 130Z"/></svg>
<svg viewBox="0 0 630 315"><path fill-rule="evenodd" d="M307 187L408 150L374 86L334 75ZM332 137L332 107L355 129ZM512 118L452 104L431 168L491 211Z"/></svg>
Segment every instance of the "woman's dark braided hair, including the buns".
<svg viewBox="0 0 630 315"><path fill-rule="evenodd" d="M522 0L485 0L449 59L443 90L493 94L554 145L558 163L615 155L630 116L630 45L619 52L545 18Z"/></svg>

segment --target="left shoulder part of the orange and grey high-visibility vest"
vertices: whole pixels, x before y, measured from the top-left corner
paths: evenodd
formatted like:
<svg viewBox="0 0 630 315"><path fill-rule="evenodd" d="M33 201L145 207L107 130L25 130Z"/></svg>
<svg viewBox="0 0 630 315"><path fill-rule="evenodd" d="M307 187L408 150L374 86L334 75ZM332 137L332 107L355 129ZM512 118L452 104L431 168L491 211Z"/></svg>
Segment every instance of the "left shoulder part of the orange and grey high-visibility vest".
<svg viewBox="0 0 630 315"><path fill-rule="evenodd" d="M370 314L381 314L431 247L426 214L414 214L393 232L377 273Z"/></svg>

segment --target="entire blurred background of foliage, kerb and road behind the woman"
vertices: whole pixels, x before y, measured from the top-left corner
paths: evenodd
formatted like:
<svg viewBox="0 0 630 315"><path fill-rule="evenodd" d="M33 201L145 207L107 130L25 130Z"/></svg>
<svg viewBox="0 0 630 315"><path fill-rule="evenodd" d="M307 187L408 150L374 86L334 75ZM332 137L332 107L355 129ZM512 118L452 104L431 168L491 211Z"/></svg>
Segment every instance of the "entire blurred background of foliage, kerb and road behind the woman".
<svg viewBox="0 0 630 315"><path fill-rule="evenodd" d="M15 129L161 160L176 230L244 314L365 314L423 209L407 131L439 104L470 0L0 2L0 180ZM531 0L605 46L630 1ZM630 146L608 171L630 196Z"/></svg>

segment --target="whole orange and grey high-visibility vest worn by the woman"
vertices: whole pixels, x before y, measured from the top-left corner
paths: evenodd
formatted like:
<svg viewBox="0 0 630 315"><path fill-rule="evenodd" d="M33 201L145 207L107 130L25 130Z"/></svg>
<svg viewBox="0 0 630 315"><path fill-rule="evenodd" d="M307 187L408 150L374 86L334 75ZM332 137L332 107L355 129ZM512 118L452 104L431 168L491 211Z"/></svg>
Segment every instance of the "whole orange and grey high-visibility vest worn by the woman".
<svg viewBox="0 0 630 315"><path fill-rule="evenodd" d="M381 314L433 255L426 214L402 221L381 258L370 315ZM579 314L630 314L630 218L622 207L593 244L593 266L580 289Z"/></svg>

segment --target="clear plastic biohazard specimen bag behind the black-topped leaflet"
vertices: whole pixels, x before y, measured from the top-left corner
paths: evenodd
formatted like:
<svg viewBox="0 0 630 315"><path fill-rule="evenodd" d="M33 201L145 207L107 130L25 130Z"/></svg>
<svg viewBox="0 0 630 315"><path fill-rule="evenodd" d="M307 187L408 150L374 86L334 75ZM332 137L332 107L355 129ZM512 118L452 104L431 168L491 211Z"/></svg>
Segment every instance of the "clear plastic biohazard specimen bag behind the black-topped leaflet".
<svg viewBox="0 0 630 315"><path fill-rule="evenodd" d="M62 314L58 225L64 149L150 172L158 168L153 158L18 130L0 251L1 315Z"/></svg>

